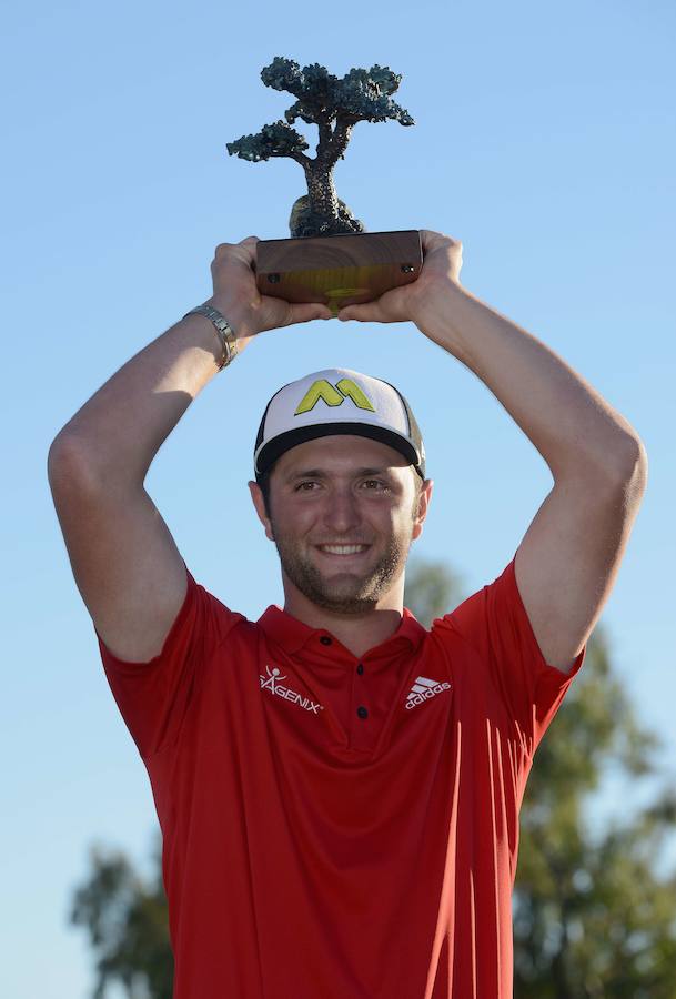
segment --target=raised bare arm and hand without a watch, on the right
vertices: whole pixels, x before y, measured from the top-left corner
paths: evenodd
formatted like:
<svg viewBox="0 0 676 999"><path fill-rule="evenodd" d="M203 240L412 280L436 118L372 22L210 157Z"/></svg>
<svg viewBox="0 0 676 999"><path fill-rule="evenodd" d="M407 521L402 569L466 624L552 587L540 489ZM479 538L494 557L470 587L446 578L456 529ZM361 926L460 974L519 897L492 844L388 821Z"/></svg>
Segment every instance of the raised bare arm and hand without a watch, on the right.
<svg viewBox="0 0 676 999"><path fill-rule="evenodd" d="M412 320L474 372L547 463L554 487L515 556L515 578L548 665L568 673L615 583L647 485L632 424L545 343L462 287L462 244L422 231L421 276L339 317Z"/></svg>

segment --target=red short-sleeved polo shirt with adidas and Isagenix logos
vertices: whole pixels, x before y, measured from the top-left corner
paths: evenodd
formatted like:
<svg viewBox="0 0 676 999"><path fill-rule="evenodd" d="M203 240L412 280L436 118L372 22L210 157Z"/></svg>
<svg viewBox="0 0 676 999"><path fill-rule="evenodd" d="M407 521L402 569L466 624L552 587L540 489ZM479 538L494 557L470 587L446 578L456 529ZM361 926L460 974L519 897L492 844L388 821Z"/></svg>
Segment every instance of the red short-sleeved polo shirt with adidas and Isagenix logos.
<svg viewBox="0 0 676 999"><path fill-rule="evenodd" d="M188 572L160 655L115 658L163 834L174 999L508 999L518 810L569 675L514 559L356 659Z"/></svg>

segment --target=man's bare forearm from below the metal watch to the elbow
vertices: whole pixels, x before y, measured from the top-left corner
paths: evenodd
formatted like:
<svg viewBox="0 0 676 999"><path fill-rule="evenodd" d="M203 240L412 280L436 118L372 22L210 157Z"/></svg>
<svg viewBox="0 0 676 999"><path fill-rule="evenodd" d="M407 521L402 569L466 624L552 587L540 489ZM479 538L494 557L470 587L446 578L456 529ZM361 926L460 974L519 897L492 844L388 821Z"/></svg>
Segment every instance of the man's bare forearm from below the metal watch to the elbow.
<svg viewBox="0 0 676 999"><path fill-rule="evenodd" d="M68 443L92 480L141 486L162 442L218 373L221 356L206 316L180 320L78 410L54 438L50 460Z"/></svg>

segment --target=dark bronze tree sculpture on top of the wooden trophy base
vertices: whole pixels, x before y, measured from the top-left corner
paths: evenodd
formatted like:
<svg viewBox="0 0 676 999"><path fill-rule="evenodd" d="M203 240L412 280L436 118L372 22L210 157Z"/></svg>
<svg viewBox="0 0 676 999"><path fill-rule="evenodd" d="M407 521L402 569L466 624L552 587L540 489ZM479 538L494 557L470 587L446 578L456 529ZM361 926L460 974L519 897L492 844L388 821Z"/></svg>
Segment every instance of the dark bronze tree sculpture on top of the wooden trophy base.
<svg viewBox="0 0 676 999"><path fill-rule="evenodd" d="M336 194L333 168L339 159L344 159L357 121L394 119L403 125L415 124L408 112L391 99L401 75L387 67L373 65L370 70L351 69L339 80L316 62L301 70L297 62L276 56L262 70L261 79L266 87L285 90L297 100L284 112L285 122L275 121L263 125L255 135L228 142L228 152L254 163L271 157L289 157L301 164L309 193L299 198L291 211L292 238L363 232L363 223ZM299 118L319 127L314 159L304 153L307 141L291 128Z"/></svg>

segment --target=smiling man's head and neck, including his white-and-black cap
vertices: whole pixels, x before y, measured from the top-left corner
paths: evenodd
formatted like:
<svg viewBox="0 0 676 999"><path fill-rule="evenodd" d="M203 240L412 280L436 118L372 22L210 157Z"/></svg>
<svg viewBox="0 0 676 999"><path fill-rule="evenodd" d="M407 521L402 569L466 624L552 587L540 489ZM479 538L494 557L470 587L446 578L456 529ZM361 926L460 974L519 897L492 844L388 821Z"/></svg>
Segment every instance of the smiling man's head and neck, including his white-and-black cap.
<svg viewBox="0 0 676 999"><path fill-rule="evenodd" d="M389 637L432 493L406 400L354 371L306 375L268 404L254 465L251 494L278 548L285 610L357 656Z"/></svg>

